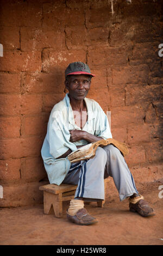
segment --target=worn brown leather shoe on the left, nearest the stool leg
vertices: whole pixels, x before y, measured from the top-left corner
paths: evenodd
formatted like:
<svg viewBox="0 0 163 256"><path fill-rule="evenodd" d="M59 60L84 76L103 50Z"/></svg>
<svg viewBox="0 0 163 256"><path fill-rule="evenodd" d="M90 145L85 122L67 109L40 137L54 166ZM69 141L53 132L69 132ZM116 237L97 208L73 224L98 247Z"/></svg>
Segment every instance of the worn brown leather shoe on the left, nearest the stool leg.
<svg viewBox="0 0 163 256"><path fill-rule="evenodd" d="M73 223L78 225L90 225L93 223L98 222L97 218L91 217L85 208L80 209L77 211L76 215L71 216L66 212L67 219Z"/></svg>

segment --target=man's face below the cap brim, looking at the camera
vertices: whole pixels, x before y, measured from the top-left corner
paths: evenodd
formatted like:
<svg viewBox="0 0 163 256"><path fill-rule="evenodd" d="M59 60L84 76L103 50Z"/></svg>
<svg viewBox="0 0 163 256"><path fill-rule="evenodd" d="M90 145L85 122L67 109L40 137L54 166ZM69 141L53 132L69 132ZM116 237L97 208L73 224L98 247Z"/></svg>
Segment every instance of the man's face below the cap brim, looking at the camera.
<svg viewBox="0 0 163 256"><path fill-rule="evenodd" d="M71 75L65 86L69 91L69 95L76 100L83 100L89 92L91 85L91 76L89 75Z"/></svg>

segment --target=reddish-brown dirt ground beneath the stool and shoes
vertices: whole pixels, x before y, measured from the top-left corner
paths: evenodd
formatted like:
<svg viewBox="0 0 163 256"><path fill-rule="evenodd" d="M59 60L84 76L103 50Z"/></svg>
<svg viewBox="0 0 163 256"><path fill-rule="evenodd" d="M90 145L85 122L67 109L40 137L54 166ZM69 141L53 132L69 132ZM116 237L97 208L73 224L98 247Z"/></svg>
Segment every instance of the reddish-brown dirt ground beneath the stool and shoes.
<svg viewBox="0 0 163 256"><path fill-rule="evenodd" d="M43 204L17 208L0 208L0 245L163 245L162 182L139 184L139 192L154 208L155 216L141 217L128 210L128 200L119 201L115 191L104 208L95 202L85 205L98 223L80 226L64 217L43 214Z"/></svg>

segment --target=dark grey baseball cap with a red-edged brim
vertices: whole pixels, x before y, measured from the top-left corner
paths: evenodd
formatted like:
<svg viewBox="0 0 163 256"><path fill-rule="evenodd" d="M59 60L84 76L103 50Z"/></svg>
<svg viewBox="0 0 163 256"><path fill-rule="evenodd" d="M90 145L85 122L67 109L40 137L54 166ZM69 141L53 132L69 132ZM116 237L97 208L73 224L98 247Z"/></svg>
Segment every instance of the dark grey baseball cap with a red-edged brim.
<svg viewBox="0 0 163 256"><path fill-rule="evenodd" d="M91 70L87 64L84 62L73 62L70 63L67 66L67 69L65 70L65 77L68 75L90 75L95 76L91 74Z"/></svg>

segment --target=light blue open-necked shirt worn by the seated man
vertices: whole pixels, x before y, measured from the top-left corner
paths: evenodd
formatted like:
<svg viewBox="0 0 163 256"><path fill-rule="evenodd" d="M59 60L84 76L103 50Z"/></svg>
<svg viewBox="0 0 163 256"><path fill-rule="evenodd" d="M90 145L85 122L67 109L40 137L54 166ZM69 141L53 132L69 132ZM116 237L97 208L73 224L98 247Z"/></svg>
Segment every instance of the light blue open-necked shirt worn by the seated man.
<svg viewBox="0 0 163 256"><path fill-rule="evenodd" d="M41 155L48 175L50 184L60 185L65 179L71 163L66 158L57 157L66 153L68 149L77 150L77 145L86 145L89 142L82 139L77 142L70 142L69 130L82 130L104 139L112 138L108 118L99 104L92 99L85 97L87 108L87 121L81 129L74 121L72 107L68 93L57 103L49 116L47 134L44 139Z"/></svg>

